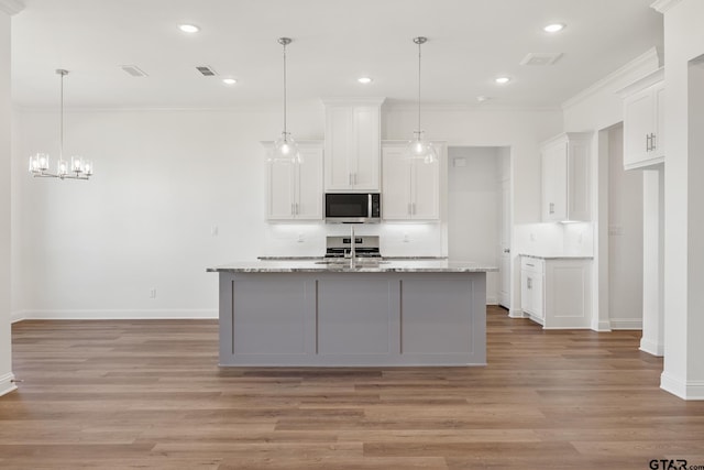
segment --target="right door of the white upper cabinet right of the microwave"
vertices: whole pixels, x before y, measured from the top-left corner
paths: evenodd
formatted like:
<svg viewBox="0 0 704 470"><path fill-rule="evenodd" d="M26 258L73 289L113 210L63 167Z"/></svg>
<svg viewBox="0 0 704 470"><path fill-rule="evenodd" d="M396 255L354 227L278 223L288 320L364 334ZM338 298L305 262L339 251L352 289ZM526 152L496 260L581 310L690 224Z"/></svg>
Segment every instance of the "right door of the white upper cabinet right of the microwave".
<svg viewBox="0 0 704 470"><path fill-rule="evenodd" d="M440 162L414 161L411 166L411 216L414 219L440 218Z"/></svg>

